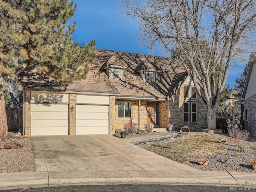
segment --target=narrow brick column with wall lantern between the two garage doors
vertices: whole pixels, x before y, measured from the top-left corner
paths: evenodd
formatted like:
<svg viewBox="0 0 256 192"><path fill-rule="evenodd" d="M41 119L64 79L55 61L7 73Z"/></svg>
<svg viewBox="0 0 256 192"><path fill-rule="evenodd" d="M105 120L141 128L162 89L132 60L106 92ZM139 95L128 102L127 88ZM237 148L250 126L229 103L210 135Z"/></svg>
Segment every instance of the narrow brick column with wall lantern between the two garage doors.
<svg viewBox="0 0 256 192"><path fill-rule="evenodd" d="M73 112L71 112L70 108L74 107ZM69 94L69 134L76 134L76 94Z"/></svg>

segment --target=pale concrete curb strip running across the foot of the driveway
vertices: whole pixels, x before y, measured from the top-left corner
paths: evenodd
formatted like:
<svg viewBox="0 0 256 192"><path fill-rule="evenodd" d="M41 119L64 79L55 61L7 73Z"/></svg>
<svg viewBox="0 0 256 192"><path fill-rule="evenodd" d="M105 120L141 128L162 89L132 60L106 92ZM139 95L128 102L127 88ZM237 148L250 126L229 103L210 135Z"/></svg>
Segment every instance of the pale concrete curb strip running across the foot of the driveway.
<svg viewBox="0 0 256 192"><path fill-rule="evenodd" d="M256 174L199 170L70 170L0 174L0 190L103 183L256 186Z"/></svg>

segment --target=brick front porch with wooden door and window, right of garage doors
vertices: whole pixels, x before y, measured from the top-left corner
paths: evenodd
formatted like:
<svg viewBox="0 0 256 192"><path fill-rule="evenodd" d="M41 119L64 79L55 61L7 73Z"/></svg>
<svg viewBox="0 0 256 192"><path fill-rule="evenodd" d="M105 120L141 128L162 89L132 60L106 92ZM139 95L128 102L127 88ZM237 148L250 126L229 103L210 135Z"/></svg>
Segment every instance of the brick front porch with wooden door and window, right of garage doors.
<svg viewBox="0 0 256 192"><path fill-rule="evenodd" d="M170 110L168 100L127 100L111 98L110 134L116 129L123 129L127 122L134 122L140 130L145 124L154 124L161 131L166 131L169 124ZM154 128L154 129L155 129Z"/></svg>

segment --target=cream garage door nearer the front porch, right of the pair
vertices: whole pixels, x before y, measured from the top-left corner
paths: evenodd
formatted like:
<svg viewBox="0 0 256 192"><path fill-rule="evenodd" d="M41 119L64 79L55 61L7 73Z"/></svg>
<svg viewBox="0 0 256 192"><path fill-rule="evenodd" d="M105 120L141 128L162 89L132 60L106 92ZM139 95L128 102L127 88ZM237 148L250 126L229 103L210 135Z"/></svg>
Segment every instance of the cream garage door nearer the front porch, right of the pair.
<svg viewBox="0 0 256 192"><path fill-rule="evenodd" d="M109 96L76 95L76 134L109 133Z"/></svg>

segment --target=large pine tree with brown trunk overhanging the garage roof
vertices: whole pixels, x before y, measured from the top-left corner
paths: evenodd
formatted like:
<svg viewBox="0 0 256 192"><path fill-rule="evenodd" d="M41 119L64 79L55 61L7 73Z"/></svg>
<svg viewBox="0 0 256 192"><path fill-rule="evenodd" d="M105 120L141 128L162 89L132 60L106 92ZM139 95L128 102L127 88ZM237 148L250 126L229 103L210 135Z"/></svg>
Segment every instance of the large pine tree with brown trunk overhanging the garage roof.
<svg viewBox="0 0 256 192"><path fill-rule="evenodd" d="M0 0L0 139L8 132L4 83L26 66L65 83L86 77L95 41L72 42L76 23L67 23L75 10L70 0Z"/></svg>

